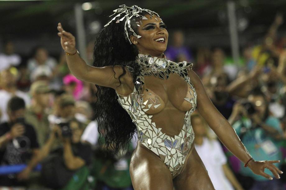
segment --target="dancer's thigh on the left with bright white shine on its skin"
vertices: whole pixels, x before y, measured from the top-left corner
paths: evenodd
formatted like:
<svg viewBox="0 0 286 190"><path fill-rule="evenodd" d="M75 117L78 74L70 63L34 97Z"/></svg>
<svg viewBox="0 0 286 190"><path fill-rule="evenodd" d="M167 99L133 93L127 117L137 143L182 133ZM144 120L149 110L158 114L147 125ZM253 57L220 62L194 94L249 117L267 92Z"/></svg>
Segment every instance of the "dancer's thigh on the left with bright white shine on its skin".
<svg viewBox="0 0 286 190"><path fill-rule="evenodd" d="M173 190L172 175L155 153L137 145L130 162L130 176L135 190Z"/></svg>

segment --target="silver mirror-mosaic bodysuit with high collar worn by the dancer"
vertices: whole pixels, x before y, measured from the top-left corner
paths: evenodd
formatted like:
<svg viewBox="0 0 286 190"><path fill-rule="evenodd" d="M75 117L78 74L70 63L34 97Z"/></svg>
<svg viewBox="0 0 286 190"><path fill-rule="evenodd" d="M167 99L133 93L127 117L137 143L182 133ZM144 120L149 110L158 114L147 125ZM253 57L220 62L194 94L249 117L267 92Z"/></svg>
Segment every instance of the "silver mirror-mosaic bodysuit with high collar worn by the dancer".
<svg viewBox="0 0 286 190"><path fill-rule="evenodd" d="M187 68L191 67L192 64L186 61L175 63L165 58L151 57L144 54L139 54L136 60L141 66L141 74L136 79L138 91L134 87L134 91L128 96L117 94L118 102L136 124L140 142L164 161L173 176L177 175L182 170L195 137L190 115L196 109L196 91L190 78L187 76ZM156 100L152 98L143 101L144 94L142 94L145 76L168 79L171 73L178 74L178 76L182 77L189 84L191 98L185 98L185 100L192 105L191 110L185 114L182 130L174 137L162 133L162 128L157 127L155 122L152 122L152 115L146 114L152 106L158 108L160 104L156 104ZM148 94L151 95L150 92Z"/></svg>

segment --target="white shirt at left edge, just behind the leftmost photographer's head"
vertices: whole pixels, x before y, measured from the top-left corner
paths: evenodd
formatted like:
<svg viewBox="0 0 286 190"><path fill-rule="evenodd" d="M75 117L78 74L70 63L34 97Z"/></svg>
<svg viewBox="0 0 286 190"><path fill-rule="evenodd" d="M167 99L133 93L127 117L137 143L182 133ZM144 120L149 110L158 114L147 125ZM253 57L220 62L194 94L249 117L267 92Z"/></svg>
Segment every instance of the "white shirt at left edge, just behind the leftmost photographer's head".
<svg viewBox="0 0 286 190"><path fill-rule="evenodd" d="M26 107L30 105L31 99L29 95L22 91L16 91L15 96L23 98L26 104ZM7 122L9 117L7 114L7 104L8 101L12 98L12 93L7 92L5 90L0 90L0 109L2 112L2 116L0 122Z"/></svg>

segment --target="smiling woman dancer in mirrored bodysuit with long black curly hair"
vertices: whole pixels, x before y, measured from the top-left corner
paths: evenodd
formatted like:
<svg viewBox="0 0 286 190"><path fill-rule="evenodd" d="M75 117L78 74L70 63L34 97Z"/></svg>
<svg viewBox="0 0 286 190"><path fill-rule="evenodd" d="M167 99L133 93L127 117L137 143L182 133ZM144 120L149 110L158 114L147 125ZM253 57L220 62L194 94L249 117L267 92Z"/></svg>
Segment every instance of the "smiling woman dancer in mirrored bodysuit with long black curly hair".
<svg viewBox="0 0 286 190"><path fill-rule="evenodd" d="M190 115L196 108L255 174L272 179L264 173L268 168L279 178L282 171L273 165L279 161L251 158L210 101L192 64L166 60L168 32L157 13L121 5L111 17L95 41L95 67L81 59L75 37L60 23L58 35L71 73L98 87L97 116L105 123L106 145L124 148L137 128L130 164L135 189L214 189L193 144Z"/></svg>

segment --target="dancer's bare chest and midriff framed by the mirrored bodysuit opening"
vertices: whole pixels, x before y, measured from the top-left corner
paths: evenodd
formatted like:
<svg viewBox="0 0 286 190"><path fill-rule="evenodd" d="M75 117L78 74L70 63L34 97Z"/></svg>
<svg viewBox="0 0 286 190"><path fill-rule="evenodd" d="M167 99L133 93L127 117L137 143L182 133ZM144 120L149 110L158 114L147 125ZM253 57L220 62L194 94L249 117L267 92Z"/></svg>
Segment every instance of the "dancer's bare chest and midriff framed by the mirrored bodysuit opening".
<svg viewBox="0 0 286 190"><path fill-rule="evenodd" d="M144 79L143 102L151 97L156 99L156 104L161 104L158 108L151 107L146 114L153 115L152 122L157 127L162 127L162 132L166 135L178 135L184 124L185 113L192 107L184 99L191 96L187 83L177 74L171 74L167 80L153 76L145 76Z"/></svg>

